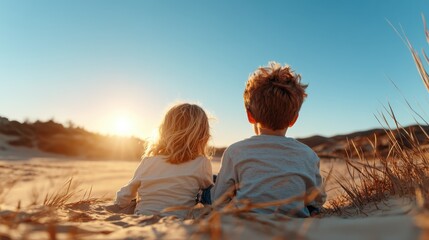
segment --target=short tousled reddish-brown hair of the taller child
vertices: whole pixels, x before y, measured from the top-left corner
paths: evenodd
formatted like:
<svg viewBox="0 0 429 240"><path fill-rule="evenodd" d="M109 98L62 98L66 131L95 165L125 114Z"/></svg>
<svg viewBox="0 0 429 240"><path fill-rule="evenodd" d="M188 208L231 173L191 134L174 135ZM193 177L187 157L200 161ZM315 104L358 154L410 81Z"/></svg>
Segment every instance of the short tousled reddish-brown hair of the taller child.
<svg viewBox="0 0 429 240"><path fill-rule="evenodd" d="M307 85L287 65L269 62L250 75L244 105L256 122L272 130L287 128L298 116Z"/></svg>

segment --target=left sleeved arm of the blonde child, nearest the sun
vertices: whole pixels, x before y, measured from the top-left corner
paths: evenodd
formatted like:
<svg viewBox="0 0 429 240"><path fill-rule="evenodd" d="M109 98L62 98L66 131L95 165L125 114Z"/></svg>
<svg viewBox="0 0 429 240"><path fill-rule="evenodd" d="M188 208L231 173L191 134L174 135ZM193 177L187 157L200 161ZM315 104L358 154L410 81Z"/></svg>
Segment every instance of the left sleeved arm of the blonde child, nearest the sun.
<svg viewBox="0 0 429 240"><path fill-rule="evenodd" d="M143 171L143 161L144 160L140 162L140 165L134 173L134 177L131 181L116 193L115 204L119 205L119 207L124 208L129 206L132 200L136 198L137 190L140 187L140 176Z"/></svg>

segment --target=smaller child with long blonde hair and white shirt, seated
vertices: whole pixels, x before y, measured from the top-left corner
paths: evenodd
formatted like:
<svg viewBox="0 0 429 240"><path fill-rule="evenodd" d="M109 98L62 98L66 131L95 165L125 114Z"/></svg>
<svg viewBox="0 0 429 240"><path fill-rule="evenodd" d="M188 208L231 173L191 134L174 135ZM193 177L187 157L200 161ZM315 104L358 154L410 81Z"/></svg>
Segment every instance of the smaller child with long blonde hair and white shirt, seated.
<svg viewBox="0 0 429 240"><path fill-rule="evenodd" d="M148 148L131 181L117 192L115 204L126 208L137 197L135 214L184 218L184 211L162 210L194 206L198 191L213 184L209 128L201 107L187 103L172 107L159 128L159 139Z"/></svg>

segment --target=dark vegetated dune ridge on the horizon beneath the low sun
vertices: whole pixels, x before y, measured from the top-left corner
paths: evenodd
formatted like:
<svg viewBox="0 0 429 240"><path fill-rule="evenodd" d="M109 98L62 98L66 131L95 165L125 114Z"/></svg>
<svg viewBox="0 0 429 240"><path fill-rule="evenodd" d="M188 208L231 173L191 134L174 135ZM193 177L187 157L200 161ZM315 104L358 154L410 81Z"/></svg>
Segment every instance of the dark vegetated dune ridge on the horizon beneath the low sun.
<svg viewBox="0 0 429 240"><path fill-rule="evenodd" d="M145 142L135 137L100 135L54 120L20 123L2 118L0 134L16 137L8 142L12 146L89 159L138 160L145 149Z"/></svg>

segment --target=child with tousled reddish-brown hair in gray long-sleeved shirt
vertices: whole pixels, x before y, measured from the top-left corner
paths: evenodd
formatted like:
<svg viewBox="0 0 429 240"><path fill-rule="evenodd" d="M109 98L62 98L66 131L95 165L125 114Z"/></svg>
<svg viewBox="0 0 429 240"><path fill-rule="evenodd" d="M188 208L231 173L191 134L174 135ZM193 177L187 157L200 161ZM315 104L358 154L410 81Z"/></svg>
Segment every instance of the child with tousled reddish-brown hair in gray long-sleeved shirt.
<svg viewBox="0 0 429 240"><path fill-rule="evenodd" d="M244 105L255 135L229 146L221 160L214 201L267 203L304 196L321 190L319 158L311 148L286 137L299 114L307 85L289 66L271 62L248 79ZM228 192L232 194L225 200ZM253 209L256 213L281 213L308 217L320 208L325 194L306 202L297 199L280 206ZM314 212L313 212L314 214Z"/></svg>

